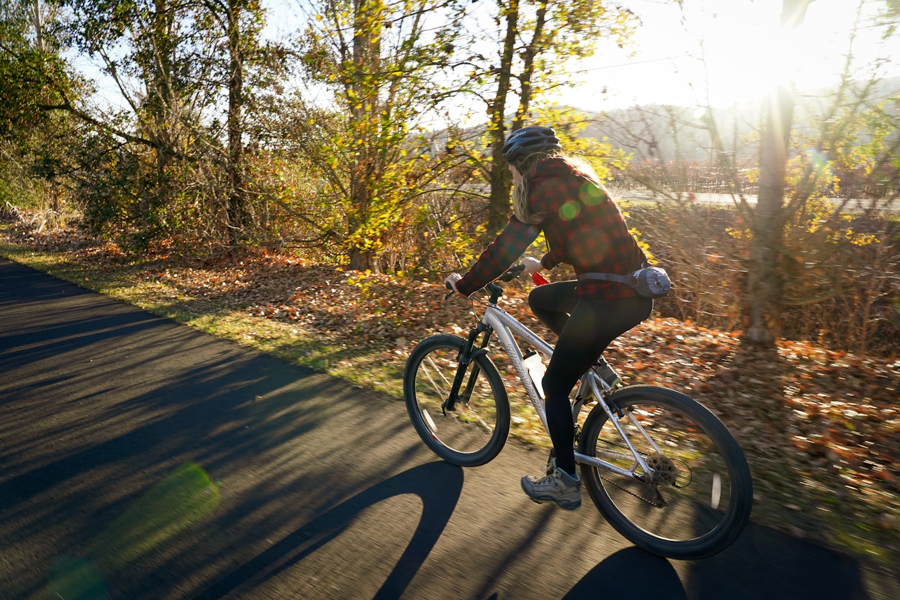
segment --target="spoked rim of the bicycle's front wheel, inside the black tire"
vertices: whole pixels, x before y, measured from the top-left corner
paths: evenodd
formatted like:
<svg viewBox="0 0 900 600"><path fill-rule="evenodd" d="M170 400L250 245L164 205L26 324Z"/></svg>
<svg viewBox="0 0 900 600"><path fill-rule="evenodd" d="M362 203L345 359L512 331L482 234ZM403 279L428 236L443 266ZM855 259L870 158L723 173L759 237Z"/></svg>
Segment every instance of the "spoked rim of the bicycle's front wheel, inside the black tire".
<svg viewBox="0 0 900 600"><path fill-rule="evenodd" d="M458 348L431 350L419 362L416 372L416 405L429 437L455 452L472 454L482 450L497 435L497 404L491 385L479 372L473 393L467 403L457 402L455 411L441 409L450 395L456 375ZM460 395L463 394L476 363L466 370ZM479 369L480 370L480 369Z"/></svg>

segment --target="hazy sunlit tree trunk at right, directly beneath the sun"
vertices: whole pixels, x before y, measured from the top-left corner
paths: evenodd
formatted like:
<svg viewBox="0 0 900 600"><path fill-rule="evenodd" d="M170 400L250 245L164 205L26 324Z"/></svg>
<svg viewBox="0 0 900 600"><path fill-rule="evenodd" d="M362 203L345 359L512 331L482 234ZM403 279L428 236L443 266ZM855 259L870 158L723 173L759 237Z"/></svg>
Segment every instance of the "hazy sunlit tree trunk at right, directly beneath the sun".
<svg viewBox="0 0 900 600"><path fill-rule="evenodd" d="M803 24L806 8L813 0L784 0L781 5L781 34ZM779 332L784 278L780 262L784 246L785 170L788 140L794 116L794 84L779 82L770 95L766 125L760 147L760 194L752 214L750 269L747 277L747 308L750 324L743 337L765 346L774 346Z"/></svg>

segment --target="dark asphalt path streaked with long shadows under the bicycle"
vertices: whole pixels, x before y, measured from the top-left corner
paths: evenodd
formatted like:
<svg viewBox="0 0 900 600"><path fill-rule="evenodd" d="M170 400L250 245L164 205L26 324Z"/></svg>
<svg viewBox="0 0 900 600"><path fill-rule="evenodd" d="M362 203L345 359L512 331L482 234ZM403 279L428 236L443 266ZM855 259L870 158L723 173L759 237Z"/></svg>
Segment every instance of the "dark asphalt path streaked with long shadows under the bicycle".
<svg viewBox="0 0 900 600"><path fill-rule="evenodd" d="M396 399L0 259L0 598L896 598L752 525L698 562L637 550L545 455L436 459Z"/></svg>

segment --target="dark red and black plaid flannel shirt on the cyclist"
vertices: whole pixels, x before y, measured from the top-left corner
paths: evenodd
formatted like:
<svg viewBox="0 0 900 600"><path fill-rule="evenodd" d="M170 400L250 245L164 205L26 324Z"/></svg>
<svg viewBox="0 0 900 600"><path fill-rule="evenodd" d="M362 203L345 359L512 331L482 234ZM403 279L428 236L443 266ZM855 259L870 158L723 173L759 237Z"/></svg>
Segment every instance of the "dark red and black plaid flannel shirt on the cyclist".
<svg viewBox="0 0 900 600"><path fill-rule="evenodd" d="M522 223L515 215L497 239L482 252L456 289L470 295L500 277L544 232L550 248L541 264L552 269L561 262L575 272L628 275L644 266L646 257L628 232L625 217L602 184L565 159L537 163L528 186L528 203L541 223ZM615 300L635 295L626 284L586 279L579 295Z"/></svg>

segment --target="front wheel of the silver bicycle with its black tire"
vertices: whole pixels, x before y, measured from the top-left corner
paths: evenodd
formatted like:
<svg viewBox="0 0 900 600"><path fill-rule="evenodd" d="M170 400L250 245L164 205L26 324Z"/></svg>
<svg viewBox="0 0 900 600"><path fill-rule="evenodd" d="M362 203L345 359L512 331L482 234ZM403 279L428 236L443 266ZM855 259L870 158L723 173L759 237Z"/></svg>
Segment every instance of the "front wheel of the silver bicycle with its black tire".
<svg viewBox="0 0 900 600"><path fill-rule="evenodd" d="M403 398L413 427L429 449L451 464L478 467L494 459L506 443L509 397L500 372L482 354L467 368L463 383L465 387L477 368L474 391L479 397L443 414L440 401L449 395L458 367L455 360L464 343L455 335L433 335L421 341L403 369ZM439 367L443 372L437 372Z"/></svg>

